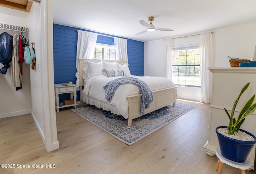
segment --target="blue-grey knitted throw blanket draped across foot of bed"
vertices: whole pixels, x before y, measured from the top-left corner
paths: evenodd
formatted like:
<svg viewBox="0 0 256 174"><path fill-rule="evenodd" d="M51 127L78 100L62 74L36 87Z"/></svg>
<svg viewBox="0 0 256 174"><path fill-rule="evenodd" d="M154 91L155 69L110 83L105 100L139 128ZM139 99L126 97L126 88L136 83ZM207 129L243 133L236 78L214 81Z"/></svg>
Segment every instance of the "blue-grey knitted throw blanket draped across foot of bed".
<svg viewBox="0 0 256 174"><path fill-rule="evenodd" d="M144 115L145 109L149 108L150 103L153 101L153 93L148 85L140 79L134 77L122 77L108 82L108 84L103 87L106 93L105 99L111 101L119 85L127 83L139 86L140 93L142 94L141 114Z"/></svg>

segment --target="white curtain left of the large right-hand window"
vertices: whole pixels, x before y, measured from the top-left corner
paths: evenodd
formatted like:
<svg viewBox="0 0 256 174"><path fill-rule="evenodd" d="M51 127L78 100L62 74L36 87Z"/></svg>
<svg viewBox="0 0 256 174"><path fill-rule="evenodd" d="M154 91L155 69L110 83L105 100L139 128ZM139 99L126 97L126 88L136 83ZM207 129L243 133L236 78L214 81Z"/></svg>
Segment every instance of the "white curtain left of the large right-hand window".
<svg viewBox="0 0 256 174"><path fill-rule="evenodd" d="M164 40L166 49L166 71L165 76L172 79L172 38Z"/></svg>

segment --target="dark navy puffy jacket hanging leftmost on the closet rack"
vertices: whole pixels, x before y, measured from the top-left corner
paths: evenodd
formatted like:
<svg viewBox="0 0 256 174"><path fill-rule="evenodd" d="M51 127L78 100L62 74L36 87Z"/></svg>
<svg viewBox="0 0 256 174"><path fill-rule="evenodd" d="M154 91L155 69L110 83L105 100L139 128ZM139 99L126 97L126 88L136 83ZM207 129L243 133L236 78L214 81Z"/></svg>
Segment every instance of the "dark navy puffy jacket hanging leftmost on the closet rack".
<svg viewBox="0 0 256 174"><path fill-rule="evenodd" d="M12 36L6 32L0 35L0 63L4 66L0 69L0 73L6 74L12 61Z"/></svg>

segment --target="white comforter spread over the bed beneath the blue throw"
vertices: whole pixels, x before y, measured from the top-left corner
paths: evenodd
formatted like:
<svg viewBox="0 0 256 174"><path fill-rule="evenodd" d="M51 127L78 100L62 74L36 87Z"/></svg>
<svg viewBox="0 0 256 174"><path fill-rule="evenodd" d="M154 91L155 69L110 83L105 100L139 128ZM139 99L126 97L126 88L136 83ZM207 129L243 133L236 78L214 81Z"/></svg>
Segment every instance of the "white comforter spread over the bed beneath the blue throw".
<svg viewBox="0 0 256 174"><path fill-rule="evenodd" d="M170 79L167 79L165 77L141 77L134 75L132 77L136 77L138 79L143 80L150 87L151 91L175 86ZM99 75L89 78L84 83L83 95L89 95L90 97L100 102L108 103L108 105L115 106L118 109L118 111L115 112L115 114L122 115L125 119L127 119L128 101L126 99L126 96L140 94L139 87L138 85L133 84L120 85L116 90L111 102L109 102L105 99L105 91L103 89L103 86L105 86L108 82L116 78L120 77L106 77L104 75Z"/></svg>

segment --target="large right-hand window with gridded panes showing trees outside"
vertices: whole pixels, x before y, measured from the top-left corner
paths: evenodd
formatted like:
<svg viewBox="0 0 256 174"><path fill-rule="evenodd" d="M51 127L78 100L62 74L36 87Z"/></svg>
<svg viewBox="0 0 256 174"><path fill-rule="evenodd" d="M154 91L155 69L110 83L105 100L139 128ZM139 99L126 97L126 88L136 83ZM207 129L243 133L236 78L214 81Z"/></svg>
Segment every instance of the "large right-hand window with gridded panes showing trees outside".
<svg viewBox="0 0 256 174"><path fill-rule="evenodd" d="M201 86L199 53L199 45L173 48L172 81L176 85Z"/></svg>

